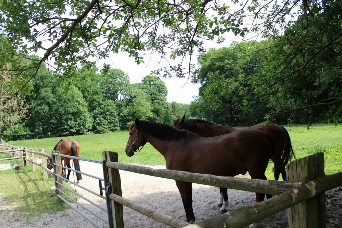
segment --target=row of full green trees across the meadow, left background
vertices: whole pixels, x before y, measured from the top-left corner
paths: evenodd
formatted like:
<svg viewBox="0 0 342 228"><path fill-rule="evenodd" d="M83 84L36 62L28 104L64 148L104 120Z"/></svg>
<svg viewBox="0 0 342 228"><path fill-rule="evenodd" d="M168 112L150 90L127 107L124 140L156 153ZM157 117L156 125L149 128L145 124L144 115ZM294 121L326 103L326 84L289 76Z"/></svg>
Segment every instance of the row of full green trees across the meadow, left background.
<svg viewBox="0 0 342 228"><path fill-rule="evenodd" d="M23 101L28 106L26 116L2 131L1 137L15 140L107 133L127 130L136 117L171 124L171 117L189 116L188 105L167 102L166 85L156 76L130 84L129 76L120 69L100 70L87 64L75 74L66 91L54 72L41 66Z"/></svg>

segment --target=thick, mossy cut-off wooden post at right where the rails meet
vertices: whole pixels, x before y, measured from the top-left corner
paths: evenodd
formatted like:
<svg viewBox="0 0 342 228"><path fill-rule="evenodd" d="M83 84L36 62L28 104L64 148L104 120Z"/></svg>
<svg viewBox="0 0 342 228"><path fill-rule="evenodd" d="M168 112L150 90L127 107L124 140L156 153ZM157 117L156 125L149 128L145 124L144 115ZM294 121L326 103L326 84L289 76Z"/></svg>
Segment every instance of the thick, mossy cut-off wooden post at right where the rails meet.
<svg viewBox="0 0 342 228"><path fill-rule="evenodd" d="M316 153L296 159L287 166L290 182L306 183L324 176L324 154ZM288 208L289 228L326 227L325 192L303 203Z"/></svg>

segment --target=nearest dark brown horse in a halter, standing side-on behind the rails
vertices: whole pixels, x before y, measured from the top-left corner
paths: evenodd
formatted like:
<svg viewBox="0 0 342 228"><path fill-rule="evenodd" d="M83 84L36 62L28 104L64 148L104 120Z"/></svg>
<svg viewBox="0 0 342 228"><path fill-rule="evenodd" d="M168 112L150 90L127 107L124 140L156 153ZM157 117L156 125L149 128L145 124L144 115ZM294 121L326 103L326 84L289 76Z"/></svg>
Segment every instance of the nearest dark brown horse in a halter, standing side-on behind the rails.
<svg viewBox="0 0 342 228"><path fill-rule="evenodd" d="M135 122L129 127L126 154L131 157L141 146L150 143L165 158L170 170L218 176L236 176L248 172L251 178L266 179L265 170L272 156L271 138L257 130L247 129L231 134L203 138L167 124ZM188 223L195 221L192 208L192 183L176 180ZM257 202L264 193L255 193Z"/></svg>

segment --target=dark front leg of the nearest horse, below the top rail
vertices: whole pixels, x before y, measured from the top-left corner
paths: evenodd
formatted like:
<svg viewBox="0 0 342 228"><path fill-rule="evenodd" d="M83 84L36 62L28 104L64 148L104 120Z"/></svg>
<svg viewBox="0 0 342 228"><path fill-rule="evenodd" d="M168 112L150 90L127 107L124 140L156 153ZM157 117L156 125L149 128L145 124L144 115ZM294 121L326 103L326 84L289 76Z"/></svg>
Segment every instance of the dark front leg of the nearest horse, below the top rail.
<svg viewBox="0 0 342 228"><path fill-rule="evenodd" d="M176 180L176 185L179 193L181 193L186 221L193 224L195 222L195 215L192 208L192 183Z"/></svg>

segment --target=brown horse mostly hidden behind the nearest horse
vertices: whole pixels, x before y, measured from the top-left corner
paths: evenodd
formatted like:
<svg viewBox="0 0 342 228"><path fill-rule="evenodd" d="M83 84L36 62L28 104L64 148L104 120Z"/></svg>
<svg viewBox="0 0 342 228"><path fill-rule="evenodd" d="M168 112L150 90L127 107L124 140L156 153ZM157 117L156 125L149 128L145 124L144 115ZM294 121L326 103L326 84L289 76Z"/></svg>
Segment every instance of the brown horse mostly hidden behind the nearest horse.
<svg viewBox="0 0 342 228"><path fill-rule="evenodd" d="M228 125L216 124L206 120L185 119L185 115L182 119L172 119L172 121L175 128L188 130L201 137L214 137L240 130ZM281 173L282 179L286 180L285 166L289 161L291 161L292 157L295 158L291 139L287 130L278 124L262 123L251 126L247 129L259 130L271 136L275 145L275 153L271 158L274 165L274 179L278 180Z"/></svg>

